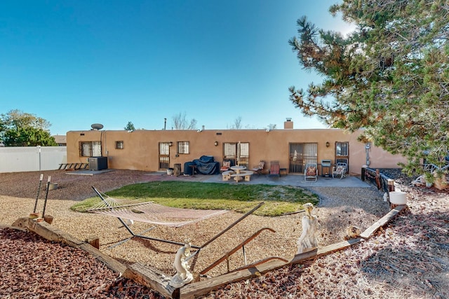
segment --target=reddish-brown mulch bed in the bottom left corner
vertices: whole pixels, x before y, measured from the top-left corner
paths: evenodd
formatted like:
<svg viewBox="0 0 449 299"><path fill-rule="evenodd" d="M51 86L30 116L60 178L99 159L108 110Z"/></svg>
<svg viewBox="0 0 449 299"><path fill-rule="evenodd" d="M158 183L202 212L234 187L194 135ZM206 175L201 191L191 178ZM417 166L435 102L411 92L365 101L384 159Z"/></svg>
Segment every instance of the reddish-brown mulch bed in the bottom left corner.
<svg viewBox="0 0 449 299"><path fill-rule="evenodd" d="M0 229L0 251L0 298L161 298L86 251L32 232Z"/></svg>

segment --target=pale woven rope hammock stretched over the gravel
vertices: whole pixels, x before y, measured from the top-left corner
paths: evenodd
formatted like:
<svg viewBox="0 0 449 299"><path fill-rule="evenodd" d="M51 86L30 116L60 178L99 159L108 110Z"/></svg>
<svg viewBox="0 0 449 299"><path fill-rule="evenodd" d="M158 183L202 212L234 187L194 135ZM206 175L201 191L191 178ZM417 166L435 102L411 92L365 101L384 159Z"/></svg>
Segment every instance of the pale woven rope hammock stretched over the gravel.
<svg viewBox="0 0 449 299"><path fill-rule="evenodd" d="M112 197L100 197L102 201L91 209L91 213L104 214L117 218L126 218L133 221L142 221L156 225L166 225L179 228L202 221L206 218L224 214L227 210L201 210L201 209L180 209L165 207L154 202L141 202L137 204L123 204L121 200ZM129 200L128 200L129 202Z"/></svg>

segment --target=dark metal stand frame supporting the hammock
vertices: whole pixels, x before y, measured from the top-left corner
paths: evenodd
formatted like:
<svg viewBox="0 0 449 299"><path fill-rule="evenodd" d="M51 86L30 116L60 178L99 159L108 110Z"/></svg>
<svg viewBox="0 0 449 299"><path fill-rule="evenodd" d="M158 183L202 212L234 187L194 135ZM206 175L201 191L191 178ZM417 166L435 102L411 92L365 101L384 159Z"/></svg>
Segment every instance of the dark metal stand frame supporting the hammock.
<svg viewBox="0 0 449 299"><path fill-rule="evenodd" d="M102 200L102 202L104 202L104 203L107 205L107 208L108 208L109 210L114 209L114 207L112 207L112 206L107 202L107 200L105 200L105 197L103 197L103 196L101 195L100 191L98 191L97 188L95 188L94 186L92 186L92 188L93 188L93 190L95 191L95 193L97 193L97 195L100 197L100 199ZM193 256L196 256L196 254L199 253L199 251L200 251L202 248L206 247L208 244L210 244L211 242L213 242L215 239L217 239L218 237L220 237L221 235L223 235L225 232L227 232L228 230L230 230L234 225L236 225L237 223L239 223L240 221L242 221L244 218L246 218L246 217L249 216L250 214L253 214L253 212L254 212L255 210L257 210L257 209L259 209L260 207L262 207L262 204L264 204L264 202L260 202L260 204L257 204L256 207L254 207L253 209L251 209L250 211L248 211L246 214L244 214L243 216L241 216L241 218L239 218L239 219L237 219L236 221L234 221L234 223L232 223L232 224L229 225L227 228L225 228L225 230L222 230L222 232L219 232L217 235L215 235L215 237L213 237L212 239L209 239L209 240L208 240L206 243L204 243L203 245L201 245L201 246L195 246L195 245L192 245L192 248L198 249L198 250L195 251L195 252L192 254L192 256L190 256L189 258L192 258ZM130 206L132 207L132 206L136 206L136 205L137 205L137 204L132 204L132 205L130 205ZM123 206L121 206L121 207L123 207ZM95 211L95 209L93 209L92 211ZM222 211L217 212L217 214L223 214L223 213L225 213L225 212L227 212L227 211L226 211L226 210L222 210ZM103 214L103 213L101 213L101 214ZM107 213L106 213L106 214L107 214ZM109 216L112 216L112 214L109 214ZM215 216L215 214L214 214L214 215L211 215L211 216ZM120 217L118 217L118 216L116 216L116 218L119 219L119 221L121 222L121 224L123 225L123 227L126 228L126 230L128 230L128 232L130 233L131 237L129 237L129 238L127 238L127 239L123 239L122 241L120 241L120 242L114 244L113 246L110 246L109 249L110 249L110 248L114 248L115 246L119 246L120 244L123 244L124 242L129 241L130 239L133 239L133 237L138 237L138 238L141 238L141 239L149 239L149 240L151 240L151 241L164 242L164 243L175 244L175 245L180 245L180 246L184 246L184 245L185 245L184 243L180 243L180 242L170 241L170 240L166 240L166 239L158 239L158 238L154 238L154 237L147 237L147 236L145 236L145 235L142 235L143 233L148 232L149 230L152 230L152 229L156 228L155 226L153 226L152 228L149 228L148 230L145 230L145 231L143 231L143 232L140 232L139 234L135 234L135 232L133 232L133 230L131 230L131 228L129 227L129 225L126 224L126 222L123 221L122 218L120 218ZM202 220L202 219L199 219L199 220ZM199 220L196 219L196 220L194 220L194 221L185 221L185 223L183 223L183 225L185 225L185 224L187 224L187 223L196 222L196 221L199 221ZM147 222L153 223L152 221L147 221ZM164 223L158 223L158 224L163 225ZM175 225L171 225L171 226L175 226Z"/></svg>

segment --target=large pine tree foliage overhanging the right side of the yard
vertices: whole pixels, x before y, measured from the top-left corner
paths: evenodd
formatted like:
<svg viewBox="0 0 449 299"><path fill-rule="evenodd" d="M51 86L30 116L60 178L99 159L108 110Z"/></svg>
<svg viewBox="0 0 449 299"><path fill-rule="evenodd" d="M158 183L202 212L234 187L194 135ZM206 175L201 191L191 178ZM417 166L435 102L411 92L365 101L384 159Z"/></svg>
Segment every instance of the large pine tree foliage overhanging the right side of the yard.
<svg viewBox="0 0 449 299"><path fill-rule="evenodd" d="M323 76L307 90L290 88L306 116L331 127L364 129L373 141L408 159L441 167L449 137L449 6L445 1L343 0L330 13L356 25L346 37L297 20L290 46L304 69ZM327 99L333 98L328 101Z"/></svg>

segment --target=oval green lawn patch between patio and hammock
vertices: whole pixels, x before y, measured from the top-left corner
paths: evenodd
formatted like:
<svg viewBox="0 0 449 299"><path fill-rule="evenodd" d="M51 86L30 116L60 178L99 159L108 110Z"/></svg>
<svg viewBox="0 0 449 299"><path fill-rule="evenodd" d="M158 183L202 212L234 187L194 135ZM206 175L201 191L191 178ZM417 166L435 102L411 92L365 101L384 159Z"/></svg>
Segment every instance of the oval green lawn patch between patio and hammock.
<svg viewBox="0 0 449 299"><path fill-rule="evenodd" d="M302 204L319 202L317 195L299 187L273 185L231 185L227 183L199 183L179 181L155 181L124 186L107 192L114 198L135 202L152 201L168 207L185 209L229 209L240 213L250 211L260 202L260 209L253 214L279 216L302 209ZM100 202L100 197L83 200L71 207L74 211L86 211Z"/></svg>

